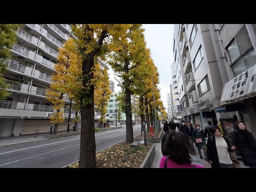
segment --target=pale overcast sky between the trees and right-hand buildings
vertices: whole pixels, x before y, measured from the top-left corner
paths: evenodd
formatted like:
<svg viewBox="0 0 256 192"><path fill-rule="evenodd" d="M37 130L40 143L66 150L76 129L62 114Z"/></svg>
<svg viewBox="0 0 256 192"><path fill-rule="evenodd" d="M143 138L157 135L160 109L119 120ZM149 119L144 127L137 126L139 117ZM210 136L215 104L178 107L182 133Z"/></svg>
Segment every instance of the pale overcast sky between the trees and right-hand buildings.
<svg viewBox="0 0 256 192"><path fill-rule="evenodd" d="M171 83L171 68L173 62L172 54L172 38L173 25L172 24L143 24L145 28L145 37L147 47L151 50L152 59L157 67L159 73L159 87L161 88L161 100L167 111L167 93L170 93ZM117 86L117 81L114 78L114 72L109 69L109 79L115 83L115 92L121 90Z"/></svg>

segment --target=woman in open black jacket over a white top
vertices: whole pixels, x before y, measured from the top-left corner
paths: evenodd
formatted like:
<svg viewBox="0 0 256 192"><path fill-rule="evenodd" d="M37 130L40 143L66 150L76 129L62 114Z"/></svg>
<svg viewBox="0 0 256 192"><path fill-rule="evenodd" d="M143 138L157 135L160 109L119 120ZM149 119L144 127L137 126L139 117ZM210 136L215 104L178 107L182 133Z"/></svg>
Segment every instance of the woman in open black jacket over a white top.
<svg viewBox="0 0 256 192"><path fill-rule="evenodd" d="M231 146L229 140L221 136L218 126L212 126L210 131L213 136L208 139L206 153L212 168L235 168L229 153L236 147Z"/></svg>

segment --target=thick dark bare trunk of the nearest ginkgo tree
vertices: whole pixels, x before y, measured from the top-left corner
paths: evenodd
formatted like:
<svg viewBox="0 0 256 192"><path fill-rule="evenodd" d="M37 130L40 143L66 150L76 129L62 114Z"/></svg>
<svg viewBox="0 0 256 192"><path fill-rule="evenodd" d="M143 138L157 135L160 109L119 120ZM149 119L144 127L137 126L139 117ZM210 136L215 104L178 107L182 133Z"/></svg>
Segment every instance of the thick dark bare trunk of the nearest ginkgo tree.
<svg viewBox="0 0 256 192"><path fill-rule="evenodd" d="M83 75L89 74L94 65L93 57L85 59L82 63ZM93 73L88 75L88 78L83 79L83 86L87 87L87 83L91 82ZM85 93L87 92L87 93ZM81 141L80 141L80 158L79 168L93 168L96 166L96 143L94 134L94 85L91 85L89 90L84 90L81 97L91 101L86 106L81 106Z"/></svg>

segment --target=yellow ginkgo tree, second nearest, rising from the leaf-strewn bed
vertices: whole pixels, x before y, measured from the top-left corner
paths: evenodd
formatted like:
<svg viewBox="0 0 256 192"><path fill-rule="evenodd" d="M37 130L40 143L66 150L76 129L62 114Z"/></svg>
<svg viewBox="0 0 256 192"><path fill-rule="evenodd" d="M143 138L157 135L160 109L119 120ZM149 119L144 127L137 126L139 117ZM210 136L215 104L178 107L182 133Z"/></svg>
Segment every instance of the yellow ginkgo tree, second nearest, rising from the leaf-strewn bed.
<svg viewBox="0 0 256 192"><path fill-rule="evenodd" d="M119 77L118 85L121 86L118 100L123 101L121 108L126 115L126 143L133 142L131 95L135 92L133 81L139 75L138 67L146 47L144 30L140 24L132 25L123 38L116 39L116 49L108 55L108 63Z"/></svg>

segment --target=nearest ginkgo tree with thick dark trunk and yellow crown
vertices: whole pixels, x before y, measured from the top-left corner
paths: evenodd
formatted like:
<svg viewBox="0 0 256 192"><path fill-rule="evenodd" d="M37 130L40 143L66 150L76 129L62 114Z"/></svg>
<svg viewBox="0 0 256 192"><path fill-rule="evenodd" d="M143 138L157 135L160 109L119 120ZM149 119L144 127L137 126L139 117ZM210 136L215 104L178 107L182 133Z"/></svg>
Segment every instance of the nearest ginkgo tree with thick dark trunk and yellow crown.
<svg viewBox="0 0 256 192"><path fill-rule="evenodd" d="M72 31L77 37L76 44L82 58L82 89L78 92L81 102L81 143L79 167L95 167L95 135L94 135L94 60L115 48L117 39L122 39L130 24L77 24ZM116 49L116 48L115 48Z"/></svg>

